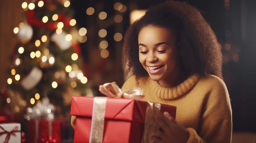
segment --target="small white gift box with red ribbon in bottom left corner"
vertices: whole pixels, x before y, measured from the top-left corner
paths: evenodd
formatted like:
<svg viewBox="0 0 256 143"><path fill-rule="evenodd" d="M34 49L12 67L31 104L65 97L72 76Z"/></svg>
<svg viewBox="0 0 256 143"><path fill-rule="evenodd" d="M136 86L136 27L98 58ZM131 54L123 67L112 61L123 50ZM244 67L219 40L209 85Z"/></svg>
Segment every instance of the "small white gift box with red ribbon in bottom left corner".
<svg viewBox="0 0 256 143"><path fill-rule="evenodd" d="M0 143L21 143L21 124L0 123Z"/></svg>

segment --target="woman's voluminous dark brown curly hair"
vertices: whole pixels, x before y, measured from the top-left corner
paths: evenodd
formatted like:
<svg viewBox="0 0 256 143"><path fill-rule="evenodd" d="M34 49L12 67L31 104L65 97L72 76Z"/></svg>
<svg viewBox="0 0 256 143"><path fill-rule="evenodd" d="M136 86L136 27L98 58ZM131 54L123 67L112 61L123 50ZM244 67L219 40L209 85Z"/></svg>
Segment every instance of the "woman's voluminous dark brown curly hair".
<svg viewBox="0 0 256 143"><path fill-rule="evenodd" d="M166 1L152 7L128 28L123 45L123 68L136 79L148 73L139 63L138 35L147 26L154 25L175 31L179 66L186 76L194 73L213 74L222 78L222 53L215 33L200 11L185 2Z"/></svg>

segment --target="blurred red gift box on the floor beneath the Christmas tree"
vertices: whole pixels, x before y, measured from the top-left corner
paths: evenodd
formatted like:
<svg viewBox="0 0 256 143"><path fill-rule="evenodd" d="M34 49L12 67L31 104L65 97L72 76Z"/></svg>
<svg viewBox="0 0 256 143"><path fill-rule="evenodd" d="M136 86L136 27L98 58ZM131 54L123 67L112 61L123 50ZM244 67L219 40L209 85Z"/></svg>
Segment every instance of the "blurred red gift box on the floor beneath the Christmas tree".
<svg viewBox="0 0 256 143"><path fill-rule="evenodd" d="M28 143L61 143L60 120L30 120L27 130Z"/></svg>

